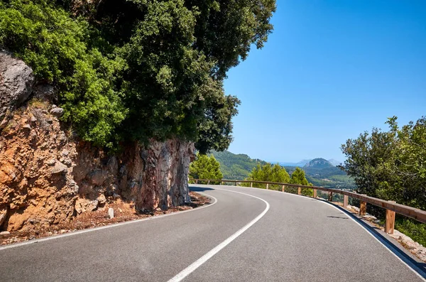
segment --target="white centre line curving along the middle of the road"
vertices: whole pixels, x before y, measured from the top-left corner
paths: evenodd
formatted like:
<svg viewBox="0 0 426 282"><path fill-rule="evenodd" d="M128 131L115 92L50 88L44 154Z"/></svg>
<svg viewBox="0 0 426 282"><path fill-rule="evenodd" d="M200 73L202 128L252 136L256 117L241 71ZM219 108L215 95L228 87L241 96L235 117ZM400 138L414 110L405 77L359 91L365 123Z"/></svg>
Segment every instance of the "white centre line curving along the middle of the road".
<svg viewBox="0 0 426 282"><path fill-rule="evenodd" d="M241 229L239 229L237 232L235 232L234 234L232 234L230 237L228 237L227 239L225 239L224 242L222 242L219 245L215 246L212 250L210 250L209 252L207 252L207 254L204 254L204 256L200 257L200 259L197 259L197 261L195 261L194 263L192 263L186 269L180 271L180 273L178 273L175 277L171 278L168 282L182 281L182 279L184 279L186 276L190 275L190 273L192 273L193 271L195 271L195 269L198 269L200 266L202 266L202 264L204 264L206 261L208 261L209 259L211 259L212 256L214 256L219 251L221 251L222 249L224 249L225 246L227 246L229 243L231 243L237 237L239 237L241 234L243 234L253 224L255 224L256 222L258 222L258 220L261 219L263 217L263 215L265 215L266 212L268 212L268 210L269 210L269 203L266 202L266 200L263 200L260 197L249 195L249 194L246 194L246 193L243 193L243 192L237 192L237 191L226 190L226 189L215 189L215 190L222 190L222 191L234 192L234 193L239 193L239 194L246 195L246 196L249 196L249 197L255 197L256 199L262 200L263 202L265 202L266 203L266 208L255 219L251 220L251 222L249 222L244 227L242 227Z"/></svg>

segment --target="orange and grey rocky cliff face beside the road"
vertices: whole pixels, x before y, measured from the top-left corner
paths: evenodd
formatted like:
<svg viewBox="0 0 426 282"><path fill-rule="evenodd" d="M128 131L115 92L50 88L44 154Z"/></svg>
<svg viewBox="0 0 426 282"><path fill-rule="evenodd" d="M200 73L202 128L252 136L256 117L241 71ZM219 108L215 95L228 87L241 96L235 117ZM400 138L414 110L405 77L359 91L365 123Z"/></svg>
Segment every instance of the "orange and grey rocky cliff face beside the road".
<svg viewBox="0 0 426 282"><path fill-rule="evenodd" d="M0 51L0 229L41 229L117 199L139 211L190 202L194 144L124 145L109 155L62 124L55 90Z"/></svg>

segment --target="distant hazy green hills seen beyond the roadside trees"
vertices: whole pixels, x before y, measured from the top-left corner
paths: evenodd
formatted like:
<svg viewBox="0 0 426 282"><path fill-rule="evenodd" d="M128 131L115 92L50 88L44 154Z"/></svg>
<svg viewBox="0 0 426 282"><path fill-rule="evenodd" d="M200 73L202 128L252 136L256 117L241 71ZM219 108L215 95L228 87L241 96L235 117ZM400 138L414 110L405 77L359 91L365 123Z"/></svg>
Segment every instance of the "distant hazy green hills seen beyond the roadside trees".
<svg viewBox="0 0 426 282"><path fill-rule="evenodd" d="M219 161L220 170L225 179L243 180L249 176L249 173L254 166L256 166L256 163L266 163L266 161L252 159L245 154L234 154L229 151L213 151L212 154L214 158ZM297 166L284 166L289 174L293 173L296 167ZM356 188L354 180L324 158L315 158L311 161L307 161L302 169L305 170L307 180L316 186L337 189Z"/></svg>

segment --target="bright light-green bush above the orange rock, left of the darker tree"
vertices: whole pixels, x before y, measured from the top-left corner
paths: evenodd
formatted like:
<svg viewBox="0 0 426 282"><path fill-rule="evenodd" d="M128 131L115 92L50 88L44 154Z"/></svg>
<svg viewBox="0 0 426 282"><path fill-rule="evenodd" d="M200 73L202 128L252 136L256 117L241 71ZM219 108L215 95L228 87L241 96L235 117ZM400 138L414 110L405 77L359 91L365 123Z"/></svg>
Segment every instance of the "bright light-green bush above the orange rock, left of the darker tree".
<svg viewBox="0 0 426 282"><path fill-rule="evenodd" d="M53 84L65 109L64 121L86 141L111 147L127 114L114 89L124 60L90 48L89 24L50 4L13 0L0 6L0 45L33 68L39 82Z"/></svg>

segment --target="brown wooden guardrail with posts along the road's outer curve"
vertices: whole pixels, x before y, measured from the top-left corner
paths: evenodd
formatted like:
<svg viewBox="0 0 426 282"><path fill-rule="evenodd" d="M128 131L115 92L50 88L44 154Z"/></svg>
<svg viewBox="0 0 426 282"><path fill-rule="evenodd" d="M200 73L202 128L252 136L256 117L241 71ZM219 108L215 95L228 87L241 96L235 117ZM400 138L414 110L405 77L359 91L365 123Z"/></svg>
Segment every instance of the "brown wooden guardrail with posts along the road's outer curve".
<svg viewBox="0 0 426 282"><path fill-rule="evenodd" d="M277 183L277 182L268 182L268 181L256 181L256 180L218 180L218 179L190 179L198 184L199 182L204 182L207 184L210 183L219 183L223 185L224 183L235 183L238 186L238 183L250 183L250 187L253 187L253 183L266 184L266 189L269 189L269 185L281 185L282 191L285 192L286 187L297 188L297 194L301 195L302 188L308 188L313 190L313 197L317 198L317 190L321 190L329 193L328 200L332 201L333 193L343 195L343 206L347 207L349 203L349 197L359 200L359 215L365 215L367 209L367 203L375 205L377 207L382 207L386 210L386 224L385 232L388 234L393 234L395 229L395 213L399 215L404 215L405 217L410 217L416 219L419 222L426 223L426 211L416 209L415 207L408 207L406 205L400 205L393 201L381 200L376 197L369 197L364 194L358 194L356 192L349 192L346 190L338 190L332 188L324 188L318 186L305 186L289 183ZM200 183L201 184L201 183Z"/></svg>

